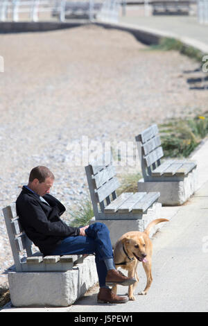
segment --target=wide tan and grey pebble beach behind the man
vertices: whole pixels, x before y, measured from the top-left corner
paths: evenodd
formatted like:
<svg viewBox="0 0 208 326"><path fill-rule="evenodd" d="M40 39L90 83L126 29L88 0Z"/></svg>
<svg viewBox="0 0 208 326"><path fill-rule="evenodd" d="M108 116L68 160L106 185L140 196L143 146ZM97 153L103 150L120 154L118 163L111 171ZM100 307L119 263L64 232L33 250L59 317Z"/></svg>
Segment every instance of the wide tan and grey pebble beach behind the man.
<svg viewBox="0 0 208 326"><path fill-rule="evenodd" d="M16 200L31 169L44 165L70 223L71 207L88 194L85 168L71 164L70 144L83 136L131 141L151 123L207 110L207 92L187 83L198 62L150 50L124 31L87 25L0 34L0 55L1 208ZM1 213L0 284L12 264Z"/></svg>

